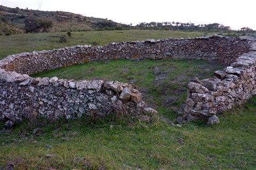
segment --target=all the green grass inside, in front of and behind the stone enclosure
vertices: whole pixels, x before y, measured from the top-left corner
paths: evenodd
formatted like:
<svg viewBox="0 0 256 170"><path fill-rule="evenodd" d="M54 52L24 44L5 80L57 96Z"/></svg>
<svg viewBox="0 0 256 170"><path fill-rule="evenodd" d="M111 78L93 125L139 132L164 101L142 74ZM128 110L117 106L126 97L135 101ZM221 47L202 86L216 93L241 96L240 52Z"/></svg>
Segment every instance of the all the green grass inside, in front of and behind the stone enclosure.
<svg viewBox="0 0 256 170"><path fill-rule="evenodd" d="M0 55L81 44L77 43L82 40L78 40L79 34L84 34L83 44L100 45L112 41L200 36L200 33L169 31L76 32L66 44L58 43L58 38L50 38L48 33L16 35L13 40L15 36L0 36L1 45L9 43L4 48L0 46ZM44 36L47 41L55 42L44 42L43 46L39 39ZM192 77L204 79L223 67L218 62L207 61L118 60L34 74L132 83L143 93L144 100L159 111L159 116L150 124L114 116L91 122L84 119L23 122L8 131L0 131L0 169L12 165L66 169L255 169L256 96L240 108L220 115L220 124L214 126L196 122L179 128L160 118L176 117L174 111L184 102L186 83ZM41 131L33 134L36 128Z"/></svg>

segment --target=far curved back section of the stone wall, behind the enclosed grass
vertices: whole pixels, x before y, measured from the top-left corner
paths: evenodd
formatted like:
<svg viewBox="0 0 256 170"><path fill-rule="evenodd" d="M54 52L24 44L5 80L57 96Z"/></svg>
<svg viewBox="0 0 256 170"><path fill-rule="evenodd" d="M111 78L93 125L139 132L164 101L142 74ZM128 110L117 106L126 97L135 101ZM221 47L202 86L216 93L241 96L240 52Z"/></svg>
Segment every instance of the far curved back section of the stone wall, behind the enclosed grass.
<svg viewBox="0 0 256 170"><path fill-rule="evenodd" d="M22 74L32 74L91 61L117 59L197 59L221 60L231 63L242 53L248 52L245 39L223 36L194 39L163 39L111 43L91 47L78 45L10 55L3 59L2 68ZM1 66L1 64L0 64Z"/></svg>

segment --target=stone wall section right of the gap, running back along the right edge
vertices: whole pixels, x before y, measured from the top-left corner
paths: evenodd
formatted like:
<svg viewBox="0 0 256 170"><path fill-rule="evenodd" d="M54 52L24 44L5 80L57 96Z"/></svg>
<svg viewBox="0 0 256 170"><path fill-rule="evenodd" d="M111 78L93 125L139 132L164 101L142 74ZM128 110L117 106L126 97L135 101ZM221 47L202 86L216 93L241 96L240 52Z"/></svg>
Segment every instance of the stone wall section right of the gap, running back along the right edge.
<svg viewBox="0 0 256 170"><path fill-rule="evenodd" d="M208 124L219 123L218 113L244 103L256 94L256 40L250 40L250 52L235 59L214 77L188 83L188 97L184 118L208 119Z"/></svg>

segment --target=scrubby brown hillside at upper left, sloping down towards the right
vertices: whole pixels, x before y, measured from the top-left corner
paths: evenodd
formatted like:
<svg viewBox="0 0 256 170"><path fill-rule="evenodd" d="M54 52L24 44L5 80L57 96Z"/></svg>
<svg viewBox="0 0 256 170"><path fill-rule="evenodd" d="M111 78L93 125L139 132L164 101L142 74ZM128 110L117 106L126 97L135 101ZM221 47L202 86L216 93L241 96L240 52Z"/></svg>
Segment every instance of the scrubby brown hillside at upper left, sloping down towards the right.
<svg viewBox="0 0 256 170"><path fill-rule="evenodd" d="M24 33L25 19L35 17L52 22L49 32L62 31L88 31L88 30L118 30L124 24L112 20L85 17L71 12L63 11L38 11L29 9L9 8L0 5L0 33L11 34Z"/></svg>

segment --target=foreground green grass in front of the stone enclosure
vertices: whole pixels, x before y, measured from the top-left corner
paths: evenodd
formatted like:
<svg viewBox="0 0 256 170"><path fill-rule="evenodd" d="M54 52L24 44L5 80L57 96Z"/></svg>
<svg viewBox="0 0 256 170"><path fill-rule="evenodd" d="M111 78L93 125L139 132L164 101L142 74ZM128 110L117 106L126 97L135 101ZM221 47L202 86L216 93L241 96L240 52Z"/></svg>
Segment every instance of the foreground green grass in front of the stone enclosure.
<svg viewBox="0 0 256 170"><path fill-rule="evenodd" d="M214 126L60 121L41 125L42 134L32 136L25 122L0 133L0 165L14 161L52 168L255 169L255 112L254 96L243 108L225 112ZM46 154L56 156L45 158Z"/></svg>

